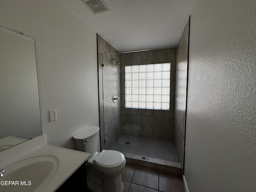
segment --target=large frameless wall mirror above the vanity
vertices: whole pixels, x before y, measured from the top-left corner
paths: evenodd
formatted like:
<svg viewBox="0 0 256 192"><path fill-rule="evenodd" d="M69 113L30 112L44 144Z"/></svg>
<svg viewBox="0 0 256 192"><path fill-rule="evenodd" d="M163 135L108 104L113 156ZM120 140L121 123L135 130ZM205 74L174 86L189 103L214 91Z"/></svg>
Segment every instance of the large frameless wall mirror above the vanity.
<svg viewBox="0 0 256 192"><path fill-rule="evenodd" d="M0 26L0 151L40 134L35 40Z"/></svg>

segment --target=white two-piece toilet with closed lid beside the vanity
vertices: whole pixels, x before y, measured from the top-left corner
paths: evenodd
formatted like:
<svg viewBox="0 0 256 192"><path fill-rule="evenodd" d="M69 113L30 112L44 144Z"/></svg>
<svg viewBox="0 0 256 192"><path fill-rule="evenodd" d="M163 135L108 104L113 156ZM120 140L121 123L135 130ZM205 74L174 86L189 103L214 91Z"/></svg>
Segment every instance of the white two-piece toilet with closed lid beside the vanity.
<svg viewBox="0 0 256 192"><path fill-rule="evenodd" d="M100 151L100 128L89 127L73 136L76 150L91 155L87 161L88 189L92 192L122 192L124 185L121 173L125 167L124 154L114 150Z"/></svg>

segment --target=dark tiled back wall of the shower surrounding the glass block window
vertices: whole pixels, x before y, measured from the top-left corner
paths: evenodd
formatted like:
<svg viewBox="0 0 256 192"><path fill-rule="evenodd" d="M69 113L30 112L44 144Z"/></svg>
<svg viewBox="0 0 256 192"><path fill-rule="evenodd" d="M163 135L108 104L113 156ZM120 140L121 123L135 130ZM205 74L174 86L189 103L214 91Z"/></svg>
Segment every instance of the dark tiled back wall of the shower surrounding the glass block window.
<svg viewBox="0 0 256 192"><path fill-rule="evenodd" d="M120 58L121 58L120 84L121 84L122 133L126 132L126 134L129 134L129 131L130 131L130 134L134 134L134 135L164 138L164 117L169 119L174 118L176 48L167 48L167 49L160 49L160 50L150 50L150 51L143 51L143 52L120 54ZM170 111L125 108L124 66L138 65L138 64L165 63L165 62L171 62L171 71L172 71L172 74L171 74L172 79L170 84L170 88L171 88ZM138 133L139 128L137 128L136 125L133 124L133 119L135 118L133 116L139 116L141 119L140 134ZM127 125L127 123L124 123L124 121L126 121L125 117L130 118L130 120L132 120L132 122L130 122L131 123L130 127L129 125ZM162 121L159 118L162 119ZM123 126L126 126L126 127L124 128ZM169 133L168 138L173 139L173 136L170 136L170 133Z"/></svg>

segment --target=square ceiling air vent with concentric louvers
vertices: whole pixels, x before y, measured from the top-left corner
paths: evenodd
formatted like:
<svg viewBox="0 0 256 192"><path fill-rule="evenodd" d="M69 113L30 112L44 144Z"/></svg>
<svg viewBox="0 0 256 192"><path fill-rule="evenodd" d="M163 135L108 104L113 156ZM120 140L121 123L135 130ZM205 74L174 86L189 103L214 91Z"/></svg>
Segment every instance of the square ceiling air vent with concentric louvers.
<svg viewBox="0 0 256 192"><path fill-rule="evenodd" d="M106 3L103 0L82 0L82 2L94 13L103 13L109 11Z"/></svg>

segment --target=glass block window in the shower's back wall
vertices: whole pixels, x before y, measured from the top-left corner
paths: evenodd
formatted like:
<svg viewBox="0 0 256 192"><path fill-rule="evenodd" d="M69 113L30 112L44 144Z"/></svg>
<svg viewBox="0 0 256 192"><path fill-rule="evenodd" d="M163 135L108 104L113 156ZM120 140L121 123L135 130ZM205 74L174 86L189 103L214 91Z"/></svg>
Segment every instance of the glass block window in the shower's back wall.
<svg viewBox="0 0 256 192"><path fill-rule="evenodd" d="M171 64L125 66L125 107L170 109Z"/></svg>

